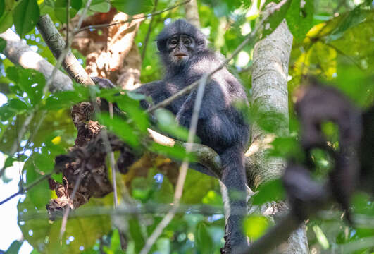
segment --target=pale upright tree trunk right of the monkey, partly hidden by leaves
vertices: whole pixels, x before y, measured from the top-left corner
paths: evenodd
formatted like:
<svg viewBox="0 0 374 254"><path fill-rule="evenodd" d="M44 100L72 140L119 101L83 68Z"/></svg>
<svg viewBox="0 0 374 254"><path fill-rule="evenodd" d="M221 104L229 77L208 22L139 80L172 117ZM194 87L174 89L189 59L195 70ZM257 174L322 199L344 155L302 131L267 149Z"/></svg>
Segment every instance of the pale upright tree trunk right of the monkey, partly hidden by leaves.
<svg viewBox="0 0 374 254"><path fill-rule="evenodd" d="M278 179L285 169L285 160L269 158L267 150L275 135L287 136L289 133L287 75L291 49L292 34L285 21L254 47L251 107L261 121L273 126L276 131L269 134L258 123L252 124L251 146L246 156L251 157L253 163L247 172L249 185L253 189ZM288 210L284 202L271 202L261 207L263 214L273 218ZM278 251L287 254L308 253L305 226L294 231L287 244L281 245Z"/></svg>

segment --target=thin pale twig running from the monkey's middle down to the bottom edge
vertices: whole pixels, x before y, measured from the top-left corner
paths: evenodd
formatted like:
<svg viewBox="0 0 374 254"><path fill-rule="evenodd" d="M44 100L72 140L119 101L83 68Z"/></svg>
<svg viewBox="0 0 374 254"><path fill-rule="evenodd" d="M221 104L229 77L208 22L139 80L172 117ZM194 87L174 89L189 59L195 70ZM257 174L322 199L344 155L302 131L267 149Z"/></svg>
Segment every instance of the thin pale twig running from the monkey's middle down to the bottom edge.
<svg viewBox="0 0 374 254"><path fill-rule="evenodd" d="M192 119L191 119L191 125L189 126L189 132L188 132L188 139L187 139L187 147L186 147L186 153L187 155L192 151L192 143L194 142L194 136L196 134L197 130L197 121L199 120L199 111L201 108L201 102L203 101L204 96L204 90L206 86L206 82L208 81L208 75L203 75L203 77L200 79L199 82L199 88L197 90L196 99L194 102L194 111L192 112ZM185 179L187 176L187 169L188 169L188 159L187 157L183 159L182 165L180 166L180 172L177 179L177 185L175 186L175 193L174 193L174 206L168 214L166 214L165 217L163 217L163 220L156 226L156 229L152 232L151 236L147 239L144 247L140 251L140 254L147 254L149 250L151 250L151 247L156 242L158 236L161 235L163 229L168 226L168 224L173 219L175 212L177 212L177 208L180 204L180 198L182 198L183 193L183 186L185 185Z"/></svg>

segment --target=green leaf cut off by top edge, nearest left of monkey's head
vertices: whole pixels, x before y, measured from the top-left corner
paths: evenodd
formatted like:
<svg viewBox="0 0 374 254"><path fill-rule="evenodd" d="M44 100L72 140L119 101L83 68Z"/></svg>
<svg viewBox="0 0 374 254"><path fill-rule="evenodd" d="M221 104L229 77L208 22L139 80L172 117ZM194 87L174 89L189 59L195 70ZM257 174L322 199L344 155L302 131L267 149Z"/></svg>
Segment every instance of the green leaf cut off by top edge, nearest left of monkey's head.
<svg viewBox="0 0 374 254"><path fill-rule="evenodd" d="M151 11L153 6L151 0L112 0L112 6L116 7L118 11L122 11L128 15L135 15L137 13L147 13Z"/></svg>

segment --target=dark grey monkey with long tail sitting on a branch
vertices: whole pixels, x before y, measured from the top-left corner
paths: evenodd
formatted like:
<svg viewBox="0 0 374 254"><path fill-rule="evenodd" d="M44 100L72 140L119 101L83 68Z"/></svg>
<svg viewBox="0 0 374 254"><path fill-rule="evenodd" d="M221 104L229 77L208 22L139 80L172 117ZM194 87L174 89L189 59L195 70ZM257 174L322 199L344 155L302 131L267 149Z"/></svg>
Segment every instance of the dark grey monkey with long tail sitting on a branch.
<svg viewBox="0 0 374 254"><path fill-rule="evenodd" d="M183 19L166 25L156 37L156 44L165 68L164 77L135 90L151 97L154 104L191 85L204 74L211 73L224 61L223 56L209 49L203 32ZM97 83L99 79L94 81ZM194 89L166 106L180 126L189 128L196 96L197 89ZM249 105L242 84L224 67L206 83L197 123L197 136L201 143L213 148L223 165L220 180L227 187L232 209L227 221L230 236L226 244L231 246L232 253L247 246L242 220L247 214L244 149L249 142L249 124L234 106L238 101ZM142 100L140 104L145 109L151 106L147 100Z"/></svg>

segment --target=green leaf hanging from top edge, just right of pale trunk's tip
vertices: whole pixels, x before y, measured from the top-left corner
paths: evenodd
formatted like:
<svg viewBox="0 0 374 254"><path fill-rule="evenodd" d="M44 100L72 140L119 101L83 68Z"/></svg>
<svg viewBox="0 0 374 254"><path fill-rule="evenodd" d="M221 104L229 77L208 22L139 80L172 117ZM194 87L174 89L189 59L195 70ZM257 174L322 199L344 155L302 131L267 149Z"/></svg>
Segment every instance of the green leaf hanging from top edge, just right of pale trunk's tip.
<svg viewBox="0 0 374 254"><path fill-rule="evenodd" d="M313 14L313 0L293 0L291 2L286 20L288 28L297 42L304 40L306 33L313 27Z"/></svg>

